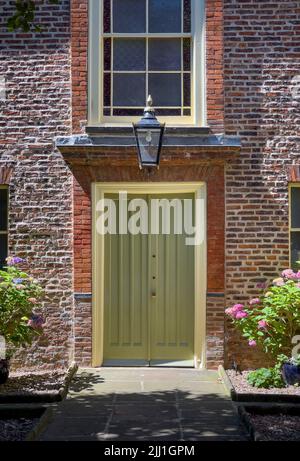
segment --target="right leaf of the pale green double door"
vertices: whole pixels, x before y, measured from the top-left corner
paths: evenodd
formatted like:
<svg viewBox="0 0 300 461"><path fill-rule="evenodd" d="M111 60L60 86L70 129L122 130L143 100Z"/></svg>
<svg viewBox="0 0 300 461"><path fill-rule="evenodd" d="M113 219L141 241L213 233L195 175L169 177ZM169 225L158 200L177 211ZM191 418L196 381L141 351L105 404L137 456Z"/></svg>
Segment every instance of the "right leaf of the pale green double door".
<svg viewBox="0 0 300 461"><path fill-rule="evenodd" d="M174 196L164 198L172 200ZM193 199L193 195L176 198ZM194 247L185 244L184 232L174 233L173 212L170 227L170 235L150 237L155 261L151 267L152 293L156 294L150 303L153 363L194 358Z"/></svg>

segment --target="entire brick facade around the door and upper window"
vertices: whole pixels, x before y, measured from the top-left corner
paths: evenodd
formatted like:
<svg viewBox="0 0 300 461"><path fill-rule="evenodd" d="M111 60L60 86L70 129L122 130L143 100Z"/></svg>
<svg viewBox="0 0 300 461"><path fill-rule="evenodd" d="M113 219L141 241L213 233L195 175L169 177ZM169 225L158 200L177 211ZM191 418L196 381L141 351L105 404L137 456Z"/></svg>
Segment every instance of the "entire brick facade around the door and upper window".
<svg viewBox="0 0 300 461"><path fill-rule="evenodd" d="M8 16L6 5L0 1ZM1 163L13 166L10 248L29 259L47 291L47 343L27 363L64 365L75 350L80 363L90 364L91 299L77 296L74 303L72 296L92 291L90 182L145 177L120 165L78 167L72 175L53 148L54 137L85 132L88 1L47 5L38 18L45 31L36 35L9 34L5 15L0 18L0 75L7 75L8 87L7 101L0 101ZM214 133L239 135L242 153L197 168L188 160L177 167L165 162L152 178L207 182L212 368L223 362L224 340L228 363L254 363L230 328L224 334L224 308L257 294L258 282L289 264L287 186L299 180L300 165L299 19L297 1L207 0L208 125Z"/></svg>

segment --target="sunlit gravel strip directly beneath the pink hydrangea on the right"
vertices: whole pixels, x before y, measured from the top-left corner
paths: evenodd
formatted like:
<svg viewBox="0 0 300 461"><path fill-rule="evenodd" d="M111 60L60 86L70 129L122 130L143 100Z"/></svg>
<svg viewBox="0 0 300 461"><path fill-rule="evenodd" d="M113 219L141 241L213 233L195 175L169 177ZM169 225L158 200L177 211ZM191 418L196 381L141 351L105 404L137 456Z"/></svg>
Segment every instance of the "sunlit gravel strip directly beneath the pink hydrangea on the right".
<svg viewBox="0 0 300 461"><path fill-rule="evenodd" d="M226 370L235 390L241 394L289 394L300 395L300 387L288 386L282 389L273 387L271 389L260 389L251 386L247 381L249 371L236 373L234 370Z"/></svg>

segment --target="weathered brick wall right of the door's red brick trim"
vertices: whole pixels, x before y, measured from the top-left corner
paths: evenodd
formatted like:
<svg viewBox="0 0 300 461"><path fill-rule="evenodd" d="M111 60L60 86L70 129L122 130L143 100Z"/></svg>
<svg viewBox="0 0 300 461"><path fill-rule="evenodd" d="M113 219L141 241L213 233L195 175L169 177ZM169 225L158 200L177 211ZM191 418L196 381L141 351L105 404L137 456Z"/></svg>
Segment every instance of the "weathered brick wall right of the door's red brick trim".
<svg viewBox="0 0 300 461"><path fill-rule="evenodd" d="M289 266L289 171L300 164L300 5L225 0L224 7L225 124L243 143L226 174L230 305ZM226 338L229 363L255 364L256 351L230 329Z"/></svg>

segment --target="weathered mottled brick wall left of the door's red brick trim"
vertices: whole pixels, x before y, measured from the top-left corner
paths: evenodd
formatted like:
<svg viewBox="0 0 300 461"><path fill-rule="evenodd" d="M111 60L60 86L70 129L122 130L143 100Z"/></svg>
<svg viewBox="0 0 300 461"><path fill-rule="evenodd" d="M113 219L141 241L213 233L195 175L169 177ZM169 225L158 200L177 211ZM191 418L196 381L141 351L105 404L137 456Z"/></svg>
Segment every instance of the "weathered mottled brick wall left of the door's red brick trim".
<svg viewBox="0 0 300 461"><path fill-rule="evenodd" d="M64 367L73 354L72 176L54 149L71 129L69 1L38 4L42 33L8 33L0 1L0 163L10 165L9 249L45 288L46 336L15 364Z"/></svg>

